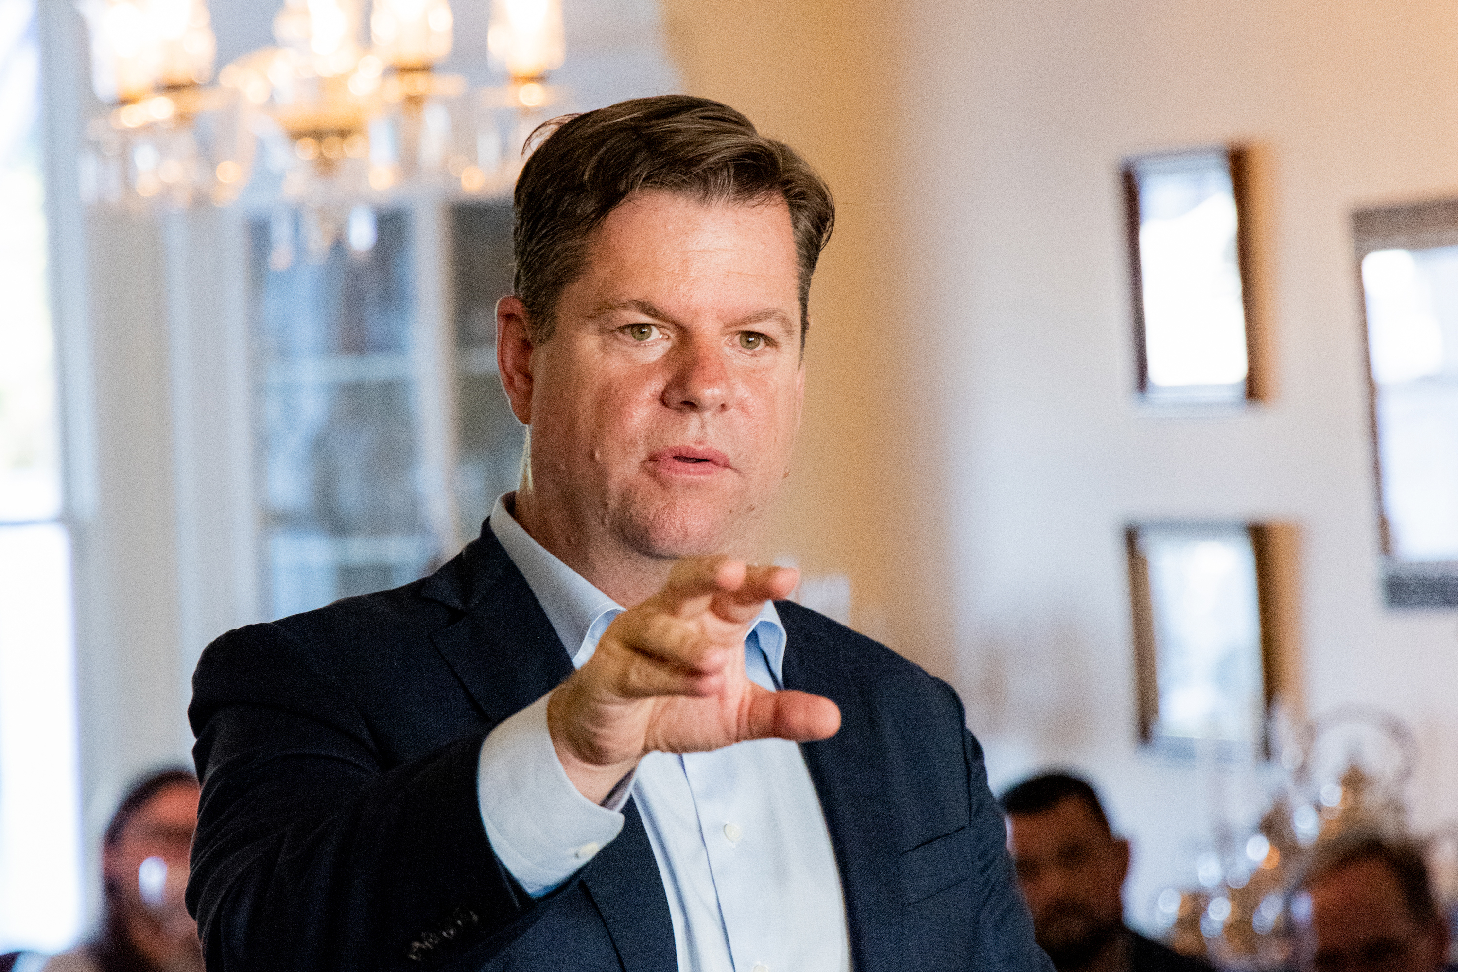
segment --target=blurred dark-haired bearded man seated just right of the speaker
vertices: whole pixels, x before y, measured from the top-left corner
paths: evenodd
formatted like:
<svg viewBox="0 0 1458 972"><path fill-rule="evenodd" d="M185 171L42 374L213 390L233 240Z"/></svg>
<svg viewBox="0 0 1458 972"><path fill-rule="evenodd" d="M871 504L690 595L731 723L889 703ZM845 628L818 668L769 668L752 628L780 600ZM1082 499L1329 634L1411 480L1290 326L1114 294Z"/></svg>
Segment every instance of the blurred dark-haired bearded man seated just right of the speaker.
<svg viewBox="0 0 1458 972"><path fill-rule="evenodd" d="M1114 836L1086 781L1048 772L999 803L1034 934L1059 972L1212 972L1124 927L1128 841Z"/></svg>

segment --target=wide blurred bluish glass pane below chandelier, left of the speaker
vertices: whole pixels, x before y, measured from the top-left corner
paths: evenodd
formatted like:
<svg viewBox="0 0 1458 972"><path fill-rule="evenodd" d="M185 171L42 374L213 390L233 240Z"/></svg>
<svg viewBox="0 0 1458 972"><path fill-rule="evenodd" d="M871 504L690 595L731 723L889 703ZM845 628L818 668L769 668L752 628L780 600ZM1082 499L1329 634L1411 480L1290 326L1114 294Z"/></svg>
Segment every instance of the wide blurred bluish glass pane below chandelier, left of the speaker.
<svg viewBox="0 0 1458 972"><path fill-rule="evenodd" d="M267 612L410 583L439 564L421 459L411 224L402 211L252 224Z"/></svg>

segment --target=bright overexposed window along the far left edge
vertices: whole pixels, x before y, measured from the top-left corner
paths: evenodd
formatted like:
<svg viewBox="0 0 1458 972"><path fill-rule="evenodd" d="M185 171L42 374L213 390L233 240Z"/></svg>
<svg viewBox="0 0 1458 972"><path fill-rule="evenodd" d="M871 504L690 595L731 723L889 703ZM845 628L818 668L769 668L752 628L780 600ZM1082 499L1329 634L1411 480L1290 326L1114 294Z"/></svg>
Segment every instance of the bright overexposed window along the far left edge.
<svg viewBox="0 0 1458 972"><path fill-rule="evenodd" d="M0 952L80 931L69 538L34 0L0 3ZM4 526L31 522L25 526Z"/></svg>

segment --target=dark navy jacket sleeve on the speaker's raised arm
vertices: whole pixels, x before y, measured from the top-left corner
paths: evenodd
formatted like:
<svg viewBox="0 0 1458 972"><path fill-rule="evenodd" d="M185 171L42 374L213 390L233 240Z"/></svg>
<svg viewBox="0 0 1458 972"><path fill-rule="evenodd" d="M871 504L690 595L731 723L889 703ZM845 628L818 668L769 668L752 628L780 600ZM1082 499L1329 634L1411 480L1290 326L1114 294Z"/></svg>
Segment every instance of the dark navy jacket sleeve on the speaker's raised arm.
<svg viewBox="0 0 1458 972"><path fill-rule="evenodd" d="M491 853L484 729L385 769L364 718L277 625L208 646L192 691L187 901L210 972L478 968L550 906Z"/></svg>

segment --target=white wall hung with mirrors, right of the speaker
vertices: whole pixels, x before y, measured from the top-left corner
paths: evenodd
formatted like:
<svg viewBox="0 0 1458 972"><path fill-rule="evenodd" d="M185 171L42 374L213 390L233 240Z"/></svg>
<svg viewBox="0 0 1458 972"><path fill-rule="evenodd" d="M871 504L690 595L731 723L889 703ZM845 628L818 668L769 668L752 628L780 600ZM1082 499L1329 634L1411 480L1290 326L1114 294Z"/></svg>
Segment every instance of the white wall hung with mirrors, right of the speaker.
<svg viewBox="0 0 1458 972"><path fill-rule="evenodd" d="M936 7L943 10L945 7ZM980 16L978 16L980 15ZM968 551L956 676L997 780L1067 761L1107 781L1143 854L1136 909L1188 880L1203 818L1188 769L1134 750L1118 530L1131 517L1257 517L1299 530L1292 702L1368 701L1424 745L1420 823L1458 818L1451 612L1392 612L1378 584L1354 207L1458 191L1449 3L981 4L913 50L965 118L932 163L932 235L965 273L927 280L954 369L945 430L970 456L949 501ZM930 58L929 58L930 60ZM952 92L965 98L954 101ZM1121 154L1248 140L1273 399L1156 417L1133 383ZM920 182L920 181L919 181ZM965 240L965 242L964 242ZM948 373L951 372L951 373ZM1193 826L1194 825L1194 826ZM1146 912L1147 914L1147 912Z"/></svg>

